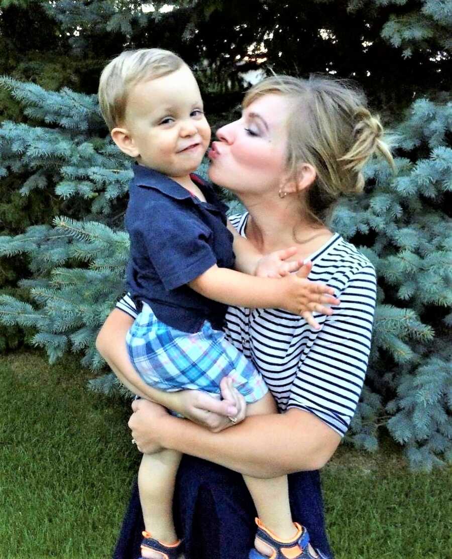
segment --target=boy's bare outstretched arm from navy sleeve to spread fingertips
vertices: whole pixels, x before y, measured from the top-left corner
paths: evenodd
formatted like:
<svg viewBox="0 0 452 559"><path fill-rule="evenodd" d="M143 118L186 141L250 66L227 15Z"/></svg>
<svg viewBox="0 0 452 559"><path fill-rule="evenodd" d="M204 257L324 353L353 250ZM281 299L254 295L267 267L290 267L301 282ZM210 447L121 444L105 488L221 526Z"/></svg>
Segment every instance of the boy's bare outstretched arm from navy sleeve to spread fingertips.
<svg viewBox="0 0 452 559"><path fill-rule="evenodd" d="M249 276L228 268L212 266L189 282L197 293L226 305L249 308L285 309L301 315L314 328L320 326L312 312L331 315L333 311L323 304L338 305L332 287L306 279L310 266L305 265L296 274L281 279Z"/></svg>

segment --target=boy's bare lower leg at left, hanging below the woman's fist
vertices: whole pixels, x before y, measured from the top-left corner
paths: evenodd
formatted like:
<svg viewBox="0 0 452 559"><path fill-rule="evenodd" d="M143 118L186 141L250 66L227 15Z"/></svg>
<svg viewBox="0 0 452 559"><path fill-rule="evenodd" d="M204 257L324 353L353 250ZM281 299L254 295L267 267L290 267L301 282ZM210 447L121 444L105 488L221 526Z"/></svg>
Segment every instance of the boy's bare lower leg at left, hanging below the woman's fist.
<svg viewBox="0 0 452 559"><path fill-rule="evenodd" d="M177 541L172 504L181 456L180 452L171 450L143 454L138 471L138 489L145 529L153 538L166 544ZM161 559L162 553L143 548L142 556Z"/></svg>

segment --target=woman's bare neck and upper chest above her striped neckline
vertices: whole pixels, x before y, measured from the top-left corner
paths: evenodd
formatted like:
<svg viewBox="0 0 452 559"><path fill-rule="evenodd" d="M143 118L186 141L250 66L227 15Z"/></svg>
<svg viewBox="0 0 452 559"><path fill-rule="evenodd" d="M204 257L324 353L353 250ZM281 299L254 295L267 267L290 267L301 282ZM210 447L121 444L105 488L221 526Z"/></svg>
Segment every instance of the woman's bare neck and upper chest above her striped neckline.
<svg viewBox="0 0 452 559"><path fill-rule="evenodd" d="M263 254L296 246L299 250L293 259L304 259L333 235L326 226L303 220L299 208L287 198L274 201L271 211L268 203L242 201L249 211L247 239Z"/></svg>

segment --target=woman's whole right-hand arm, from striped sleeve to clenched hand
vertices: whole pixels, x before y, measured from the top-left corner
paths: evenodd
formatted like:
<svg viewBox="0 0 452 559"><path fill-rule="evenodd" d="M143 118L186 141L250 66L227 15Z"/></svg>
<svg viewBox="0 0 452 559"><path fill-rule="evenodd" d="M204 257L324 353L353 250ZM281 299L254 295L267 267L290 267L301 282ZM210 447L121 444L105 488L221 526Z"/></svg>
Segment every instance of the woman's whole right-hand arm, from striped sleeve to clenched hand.
<svg viewBox="0 0 452 559"><path fill-rule="evenodd" d="M177 449L254 477L322 467L335 452L340 429L346 429L359 399L370 351L375 291L370 266L350 278L341 292L341 307L324 320L304 356L286 413L251 416L234 429L211 434L169 417L159 406L134 402L129 427L139 448L144 452L156 447ZM314 383L306 400L303 380ZM325 403L321 389L328 385L341 395L338 402ZM334 420L337 430L329 427Z"/></svg>

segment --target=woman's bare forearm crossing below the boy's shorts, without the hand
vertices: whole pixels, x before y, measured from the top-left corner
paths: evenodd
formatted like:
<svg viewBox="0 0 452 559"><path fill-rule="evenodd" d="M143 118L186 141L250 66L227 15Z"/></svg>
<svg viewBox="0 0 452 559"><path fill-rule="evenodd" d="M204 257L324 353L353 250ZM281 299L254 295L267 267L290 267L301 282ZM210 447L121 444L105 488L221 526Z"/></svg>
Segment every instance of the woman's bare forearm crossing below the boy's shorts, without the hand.
<svg viewBox="0 0 452 559"><path fill-rule="evenodd" d="M341 438L308 411L254 415L221 433L210 433L189 421L159 418L163 447L178 450L253 477L276 477L318 470Z"/></svg>

